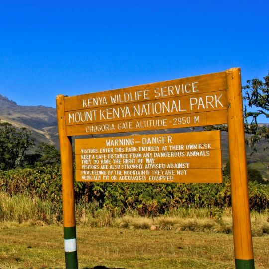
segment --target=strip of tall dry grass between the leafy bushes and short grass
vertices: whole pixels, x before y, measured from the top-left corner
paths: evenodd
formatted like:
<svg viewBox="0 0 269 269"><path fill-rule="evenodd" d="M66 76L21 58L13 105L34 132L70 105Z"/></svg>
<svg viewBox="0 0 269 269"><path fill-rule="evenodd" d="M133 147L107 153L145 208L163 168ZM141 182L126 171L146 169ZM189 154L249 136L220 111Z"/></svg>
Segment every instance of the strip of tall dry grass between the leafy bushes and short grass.
<svg viewBox="0 0 269 269"><path fill-rule="evenodd" d="M58 212L53 210L49 201L38 198L30 199L18 195L9 197L0 192L0 222L11 221L17 223L55 224ZM94 211L91 208L78 208L77 221L86 227L116 227L127 229L152 229L232 233L231 209L184 209L179 208L167 216L156 218L140 217L135 212L129 215L116 217L117 212L106 208ZM251 213L253 236L269 234L269 214Z"/></svg>

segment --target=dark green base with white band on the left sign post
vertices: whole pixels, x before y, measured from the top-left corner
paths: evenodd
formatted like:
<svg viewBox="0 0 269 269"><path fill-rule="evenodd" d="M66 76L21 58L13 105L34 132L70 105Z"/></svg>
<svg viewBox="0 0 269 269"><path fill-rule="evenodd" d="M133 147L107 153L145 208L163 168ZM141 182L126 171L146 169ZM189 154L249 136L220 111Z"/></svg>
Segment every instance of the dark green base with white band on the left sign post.
<svg viewBox="0 0 269 269"><path fill-rule="evenodd" d="M64 250L66 269L78 269L76 226L64 227Z"/></svg>

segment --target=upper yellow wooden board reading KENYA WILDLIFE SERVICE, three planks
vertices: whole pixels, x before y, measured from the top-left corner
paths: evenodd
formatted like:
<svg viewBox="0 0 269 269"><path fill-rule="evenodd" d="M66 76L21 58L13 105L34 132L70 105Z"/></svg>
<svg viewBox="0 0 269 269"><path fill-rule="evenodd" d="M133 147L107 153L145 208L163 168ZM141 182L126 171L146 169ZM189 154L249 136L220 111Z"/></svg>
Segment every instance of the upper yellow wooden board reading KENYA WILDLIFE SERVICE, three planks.
<svg viewBox="0 0 269 269"><path fill-rule="evenodd" d="M227 123L226 73L64 97L66 134L109 134Z"/></svg>

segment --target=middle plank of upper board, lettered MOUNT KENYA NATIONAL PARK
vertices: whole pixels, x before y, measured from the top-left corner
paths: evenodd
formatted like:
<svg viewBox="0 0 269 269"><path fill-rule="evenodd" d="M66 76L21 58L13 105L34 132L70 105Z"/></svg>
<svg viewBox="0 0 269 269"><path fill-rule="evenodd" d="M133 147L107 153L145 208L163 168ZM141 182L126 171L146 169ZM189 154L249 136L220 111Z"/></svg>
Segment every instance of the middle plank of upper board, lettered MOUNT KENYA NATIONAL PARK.
<svg viewBox="0 0 269 269"><path fill-rule="evenodd" d="M110 107L100 107L79 111L67 112L67 124L82 124L115 121L134 118L159 117L163 115L177 115L199 111L220 110L227 103L223 93L213 95L202 95L199 97L187 97L184 99L173 98L163 100L152 100L150 102L139 102ZM197 121L199 118L195 118ZM156 119L158 120L158 118ZM183 122L190 123L190 116ZM119 126L120 127L120 126ZM125 127L123 127L125 128Z"/></svg>

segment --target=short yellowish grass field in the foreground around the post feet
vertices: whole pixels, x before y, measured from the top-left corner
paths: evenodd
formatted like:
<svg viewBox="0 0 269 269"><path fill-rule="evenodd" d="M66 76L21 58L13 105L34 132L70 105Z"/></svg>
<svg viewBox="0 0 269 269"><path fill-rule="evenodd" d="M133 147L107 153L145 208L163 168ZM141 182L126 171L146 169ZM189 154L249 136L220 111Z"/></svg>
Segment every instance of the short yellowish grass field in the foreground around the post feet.
<svg viewBox="0 0 269 269"><path fill-rule="evenodd" d="M0 268L64 268L62 226L0 223ZM253 237L256 269L269 268L269 236ZM231 234L77 227L80 268L232 269Z"/></svg>

